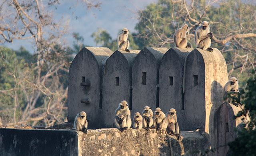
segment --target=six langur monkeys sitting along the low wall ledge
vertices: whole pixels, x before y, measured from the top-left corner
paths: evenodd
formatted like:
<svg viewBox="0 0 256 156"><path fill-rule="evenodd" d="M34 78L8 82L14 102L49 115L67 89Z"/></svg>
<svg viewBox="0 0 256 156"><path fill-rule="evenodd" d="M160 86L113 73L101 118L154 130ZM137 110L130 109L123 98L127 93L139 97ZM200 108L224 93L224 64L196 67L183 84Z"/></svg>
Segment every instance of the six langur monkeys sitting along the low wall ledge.
<svg viewBox="0 0 256 156"><path fill-rule="evenodd" d="M174 108L171 108L164 114L158 107L153 114L151 108L145 106L142 115L140 115L139 112L134 114L133 122L133 128L137 130L145 128L148 131L150 128L156 128L156 130L166 130L168 134L174 136L180 135L180 128L177 122L176 110ZM132 126L131 112L128 103L125 100L119 103L118 108L116 108L113 125L115 128L120 129L120 131L127 130ZM74 127L76 130L86 134L87 126L86 113L82 111L77 114Z"/></svg>

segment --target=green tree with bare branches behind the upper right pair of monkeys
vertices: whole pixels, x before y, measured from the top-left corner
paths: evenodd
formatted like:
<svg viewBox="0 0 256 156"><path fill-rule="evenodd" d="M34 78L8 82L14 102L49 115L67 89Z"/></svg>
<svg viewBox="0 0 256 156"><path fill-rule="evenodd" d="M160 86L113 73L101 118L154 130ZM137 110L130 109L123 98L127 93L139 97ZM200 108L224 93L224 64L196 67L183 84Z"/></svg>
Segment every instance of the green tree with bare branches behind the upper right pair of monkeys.
<svg viewBox="0 0 256 156"><path fill-rule="evenodd" d="M158 0L138 12L138 33L133 36L140 48L170 48L175 46L174 32L186 23L190 26L188 42L196 48L194 32L202 21L209 21L212 47L224 55L228 76L237 77L244 88L256 66L255 14L256 3L242 0Z"/></svg>

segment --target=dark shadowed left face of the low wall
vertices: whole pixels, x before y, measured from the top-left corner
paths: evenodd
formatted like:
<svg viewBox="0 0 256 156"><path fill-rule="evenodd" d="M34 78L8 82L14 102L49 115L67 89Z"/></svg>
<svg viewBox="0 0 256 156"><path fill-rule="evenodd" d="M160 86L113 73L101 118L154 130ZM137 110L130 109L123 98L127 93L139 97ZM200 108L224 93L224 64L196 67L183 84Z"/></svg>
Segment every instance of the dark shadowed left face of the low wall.
<svg viewBox="0 0 256 156"><path fill-rule="evenodd" d="M75 131L0 128L1 156L78 156Z"/></svg>

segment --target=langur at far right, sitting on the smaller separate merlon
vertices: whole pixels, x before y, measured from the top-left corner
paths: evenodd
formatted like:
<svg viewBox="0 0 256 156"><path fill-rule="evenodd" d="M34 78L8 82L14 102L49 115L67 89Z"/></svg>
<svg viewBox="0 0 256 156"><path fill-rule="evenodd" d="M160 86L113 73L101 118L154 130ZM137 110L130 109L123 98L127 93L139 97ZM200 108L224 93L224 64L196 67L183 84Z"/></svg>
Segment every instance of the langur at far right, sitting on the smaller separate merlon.
<svg viewBox="0 0 256 156"><path fill-rule="evenodd" d="M228 102L228 93L233 92L230 96L237 96L238 90L238 80L235 77L229 79L223 88L223 99L225 102Z"/></svg>

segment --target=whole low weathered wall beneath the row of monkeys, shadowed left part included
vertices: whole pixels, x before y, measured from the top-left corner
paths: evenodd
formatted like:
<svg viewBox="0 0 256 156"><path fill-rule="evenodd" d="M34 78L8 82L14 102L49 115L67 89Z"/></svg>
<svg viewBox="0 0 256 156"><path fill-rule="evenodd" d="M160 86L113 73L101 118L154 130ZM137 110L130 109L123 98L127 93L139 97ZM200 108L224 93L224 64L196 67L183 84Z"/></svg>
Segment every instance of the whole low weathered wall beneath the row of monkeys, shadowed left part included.
<svg viewBox="0 0 256 156"><path fill-rule="evenodd" d="M88 130L20 130L0 128L3 156L180 156L208 148L206 136L181 132L177 140L164 132L116 128ZM169 141L171 148L169 146ZM170 150L171 149L171 150ZM192 154L196 156L196 154ZM190 155L189 155L190 156Z"/></svg>

